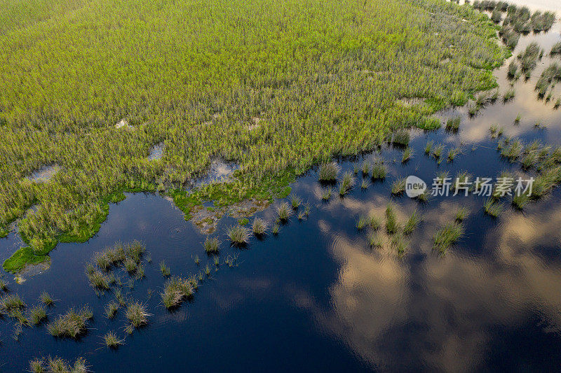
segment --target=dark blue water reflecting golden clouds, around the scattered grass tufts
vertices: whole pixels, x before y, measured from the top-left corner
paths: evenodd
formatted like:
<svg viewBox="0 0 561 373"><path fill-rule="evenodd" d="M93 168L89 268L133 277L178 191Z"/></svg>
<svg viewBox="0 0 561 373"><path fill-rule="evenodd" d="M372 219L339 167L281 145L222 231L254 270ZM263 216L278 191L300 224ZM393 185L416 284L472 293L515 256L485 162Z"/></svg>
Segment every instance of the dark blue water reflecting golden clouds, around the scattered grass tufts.
<svg viewBox="0 0 561 373"><path fill-rule="evenodd" d="M539 38L547 50L561 36L552 31L521 38L515 54L532 38ZM462 170L481 177L496 177L503 170L533 175L503 160L488 131L496 124L525 143L539 139L561 144L561 111L537 100L533 92L543 68L536 69L530 82L515 83L513 101L498 101L474 118L463 108L442 113L443 120L462 115L457 134L443 129L414 132L415 154L406 164L400 162L403 151L388 146L340 160L345 171L363 160L383 158L389 171L383 183L361 190L359 173L349 195L340 198L334 192L329 202L322 202L317 169L309 171L292 185L292 192L311 204L311 214L303 220L292 216L278 236L252 238L242 249L229 247L225 230L237 220L223 218L212 234L222 241L219 267L203 250L205 236L173 203L158 195L127 195L110 205L109 218L87 243L59 244L50 254L50 269L24 275L21 285L4 274L11 293L18 293L28 306L38 303L43 290L58 299L48 310L50 321L84 304L94 318L86 335L76 341L51 337L43 324L24 326L16 342L15 322L4 316L0 370L27 370L29 360L40 356L72 361L82 356L95 372L558 370L560 191L523 212L505 199L505 211L498 218L483 212L485 197L433 197L419 204L390 194L396 178L416 175L430 185L438 171L448 171L451 177ZM496 74L504 90L505 68ZM515 126L518 113L522 120ZM548 127L535 129L536 121ZM458 146L462 153L454 162L444 159L437 164L424 155L429 140L444 143L447 150ZM355 227L360 215L383 218L388 202L395 204L401 222L415 209L423 216L405 255L388 244L370 248L365 232ZM272 222L278 203L257 216ZM460 206L471 211L464 223L466 234L441 255L433 251L433 234L454 220ZM144 302L151 316L146 327L126 335L123 309L114 319L104 316L104 306L114 298L110 293L96 295L84 268L97 251L134 239L146 244L151 262L145 267L146 278L122 291L129 300ZM1 239L0 260L20 244L15 233ZM237 258L236 265L226 265L227 258ZM161 304L161 260L180 276L201 272L207 264L212 268L194 299L173 312ZM126 283L128 277L121 277ZM102 344L109 330L125 338L116 351Z"/></svg>

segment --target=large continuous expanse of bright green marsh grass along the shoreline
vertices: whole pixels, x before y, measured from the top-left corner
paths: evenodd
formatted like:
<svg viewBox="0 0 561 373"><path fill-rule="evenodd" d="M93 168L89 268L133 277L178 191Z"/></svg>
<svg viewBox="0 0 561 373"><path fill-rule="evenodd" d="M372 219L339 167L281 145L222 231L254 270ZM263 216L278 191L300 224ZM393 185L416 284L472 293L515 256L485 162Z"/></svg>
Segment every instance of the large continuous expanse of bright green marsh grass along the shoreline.
<svg viewBox="0 0 561 373"><path fill-rule="evenodd" d="M19 219L27 245L10 272L88 240L123 192L165 193L189 219L284 197L390 133L406 144L404 128L494 87L504 57L486 16L441 0L22 4L0 15L0 232ZM187 193L217 158L240 167Z"/></svg>

